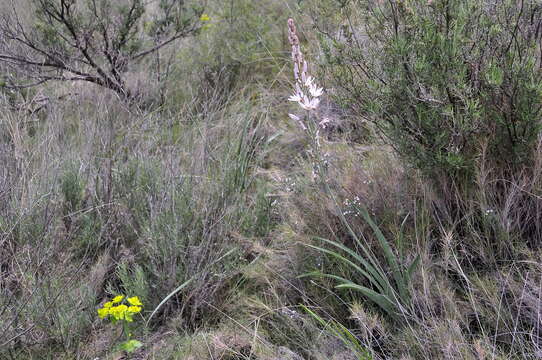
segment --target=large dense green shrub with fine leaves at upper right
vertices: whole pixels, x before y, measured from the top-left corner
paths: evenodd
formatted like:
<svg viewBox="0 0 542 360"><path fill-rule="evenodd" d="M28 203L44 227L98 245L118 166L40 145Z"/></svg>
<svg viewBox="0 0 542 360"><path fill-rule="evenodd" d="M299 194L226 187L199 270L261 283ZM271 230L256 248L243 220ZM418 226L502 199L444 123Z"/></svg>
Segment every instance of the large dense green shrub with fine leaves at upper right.
<svg viewBox="0 0 542 360"><path fill-rule="evenodd" d="M542 105L534 2L352 1L341 37L323 37L338 97L412 164L472 185L491 166L532 163Z"/></svg>

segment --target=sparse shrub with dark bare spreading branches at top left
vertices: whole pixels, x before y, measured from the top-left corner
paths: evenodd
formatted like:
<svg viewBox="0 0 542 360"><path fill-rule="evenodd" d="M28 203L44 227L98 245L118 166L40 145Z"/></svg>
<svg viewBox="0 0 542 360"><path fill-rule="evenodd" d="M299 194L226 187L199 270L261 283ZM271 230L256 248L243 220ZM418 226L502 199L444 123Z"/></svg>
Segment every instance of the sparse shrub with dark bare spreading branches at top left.
<svg viewBox="0 0 542 360"><path fill-rule="evenodd" d="M33 12L27 21L24 12ZM126 84L129 66L199 31L203 6L161 0L155 9L141 0L29 0L6 6L0 18L0 62L27 81L6 76L8 88L51 80L86 81L136 94ZM204 18L205 19L205 18Z"/></svg>

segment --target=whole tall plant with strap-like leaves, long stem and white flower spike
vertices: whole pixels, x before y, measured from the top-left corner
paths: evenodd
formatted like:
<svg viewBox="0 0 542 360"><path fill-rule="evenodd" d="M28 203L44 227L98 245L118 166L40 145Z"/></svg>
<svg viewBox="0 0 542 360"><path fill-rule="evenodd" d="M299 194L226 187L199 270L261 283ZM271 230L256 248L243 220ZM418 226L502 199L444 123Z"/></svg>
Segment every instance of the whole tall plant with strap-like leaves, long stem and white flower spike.
<svg viewBox="0 0 542 360"><path fill-rule="evenodd" d="M291 31L295 32L295 30ZM290 36L297 35L294 33ZM294 48L294 50L292 51L292 56L295 57L295 54L299 52L299 50L295 50L294 44L292 44L292 48ZM296 63L297 68L301 68L302 66L306 66L306 63L304 63L304 65ZM305 70L302 71L302 76L306 76ZM300 84L299 80L297 79L297 75L296 82L297 89L301 88L302 86L308 86L306 83L304 85ZM301 92L301 90L296 91ZM312 92L315 91L311 88L311 93ZM318 97L320 95L313 96ZM307 99L305 95L303 96L305 99ZM298 97L301 98L301 96ZM340 240L332 241L323 238L317 239L326 243L326 245L337 248L346 255L342 255L341 252L337 252L335 250L328 250L326 248L314 246L312 244L308 244L308 246L322 253L333 256L339 261L339 263L342 263L345 267L354 270L356 276L365 279L369 282L369 284L368 286L356 284L354 282L356 280L354 279L346 279L335 274L321 274L320 271L316 271L303 276L315 275L334 279L340 282L340 284L337 285L336 288L354 290L361 293L364 297L368 298L370 301L378 305L382 310L384 310L388 315L393 318L399 318L400 315L409 314L411 312L411 296L409 283L412 272L419 261L419 257L416 258L416 260L410 266L408 266L407 269L403 269L402 267L400 267L397 256L393 252L389 242L384 237L384 234L382 233L380 228L369 216L367 209L365 207L354 205L356 213L361 214L367 224L370 225L374 236L378 241L378 245L384 253L384 257L387 262L387 268L390 269L392 276L390 277L388 273L384 270L384 267L382 266L380 260L374 255L374 252L372 251L371 246L367 243L365 237L363 235L360 237L355 233L351 224L346 219L346 216L343 213L343 210L337 200L337 196L335 195L335 191L331 185L334 181L331 178L329 171L329 162L326 160L326 156L324 155L324 151L322 149L320 141L320 128L318 125L319 119L316 117L316 121L313 120L316 115L314 114L314 109L307 110L306 113L309 121L307 121L306 125L304 125L304 130L305 136L308 138L307 140L310 146L307 152L309 154L309 159L311 161L313 172L319 180L318 185L320 185L321 188L325 191L326 197L331 200L335 205L335 209L339 213L339 219L341 221L341 225L344 227L344 231L348 235L350 235L350 237L355 241L355 250L343 245ZM354 262L349 260L348 257L353 258Z"/></svg>

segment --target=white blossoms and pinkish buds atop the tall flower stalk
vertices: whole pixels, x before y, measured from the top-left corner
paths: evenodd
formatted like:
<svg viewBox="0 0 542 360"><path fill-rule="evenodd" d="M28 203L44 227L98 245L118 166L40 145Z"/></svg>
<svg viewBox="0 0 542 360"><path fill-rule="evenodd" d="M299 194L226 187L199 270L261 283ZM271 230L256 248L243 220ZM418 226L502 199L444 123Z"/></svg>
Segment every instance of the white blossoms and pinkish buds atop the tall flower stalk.
<svg viewBox="0 0 542 360"><path fill-rule="evenodd" d="M295 89L294 93L288 98L289 101L293 101L299 104L299 106L308 112L314 111L320 105L320 96L324 93L324 89L318 87L314 82L314 78L308 75L308 64L303 58L303 53L299 46L299 38L297 36L297 30L293 19L288 19L288 40L292 46L292 61L294 63L294 79ZM301 125L303 130L307 130L307 126L303 123L301 118L295 114L288 114L288 116Z"/></svg>

